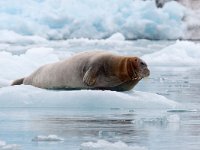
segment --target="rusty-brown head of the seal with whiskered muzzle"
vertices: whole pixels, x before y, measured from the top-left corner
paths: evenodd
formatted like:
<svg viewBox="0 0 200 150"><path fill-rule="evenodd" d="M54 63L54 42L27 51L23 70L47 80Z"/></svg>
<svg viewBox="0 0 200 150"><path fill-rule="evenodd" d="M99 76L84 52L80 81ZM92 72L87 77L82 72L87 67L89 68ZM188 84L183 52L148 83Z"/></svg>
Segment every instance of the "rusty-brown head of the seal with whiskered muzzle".
<svg viewBox="0 0 200 150"><path fill-rule="evenodd" d="M150 75L147 64L138 57L128 58L127 71L132 80L141 80Z"/></svg>

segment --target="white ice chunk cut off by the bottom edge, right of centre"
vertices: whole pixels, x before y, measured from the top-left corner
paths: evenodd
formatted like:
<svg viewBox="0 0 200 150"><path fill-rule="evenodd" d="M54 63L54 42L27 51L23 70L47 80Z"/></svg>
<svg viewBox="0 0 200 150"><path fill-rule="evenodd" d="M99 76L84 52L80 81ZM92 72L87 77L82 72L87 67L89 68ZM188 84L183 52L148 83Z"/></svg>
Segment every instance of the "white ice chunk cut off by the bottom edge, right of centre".
<svg viewBox="0 0 200 150"><path fill-rule="evenodd" d="M97 142L86 142L81 144L82 150L148 150L143 146L129 146L122 141L108 142L105 140L98 140Z"/></svg>

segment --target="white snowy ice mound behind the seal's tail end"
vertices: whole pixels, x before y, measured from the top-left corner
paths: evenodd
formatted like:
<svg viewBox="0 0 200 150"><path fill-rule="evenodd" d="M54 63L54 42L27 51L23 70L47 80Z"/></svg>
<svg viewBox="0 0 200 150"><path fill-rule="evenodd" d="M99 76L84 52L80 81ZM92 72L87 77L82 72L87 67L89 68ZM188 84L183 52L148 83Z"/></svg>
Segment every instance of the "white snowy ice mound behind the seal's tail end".
<svg viewBox="0 0 200 150"><path fill-rule="evenodd" d="M31 48L25 54L12 55L9 52L0 52L1 80L12 80L21 76L27 76L42 64L58 61L52 48Z"/></svg>

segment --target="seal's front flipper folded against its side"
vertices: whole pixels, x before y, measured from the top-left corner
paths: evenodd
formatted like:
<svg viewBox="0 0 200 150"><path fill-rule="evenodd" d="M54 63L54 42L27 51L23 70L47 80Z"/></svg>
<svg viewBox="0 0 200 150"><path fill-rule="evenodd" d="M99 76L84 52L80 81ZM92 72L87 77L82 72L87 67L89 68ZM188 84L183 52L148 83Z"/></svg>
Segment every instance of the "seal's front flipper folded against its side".
<svg viewBox="0 0 200 150"><path fill-rule="evenodd" d="M83 82L88 86L92 86L95 84L96 79L97 79L97 69L89 68L83 77Z"/></svg>

